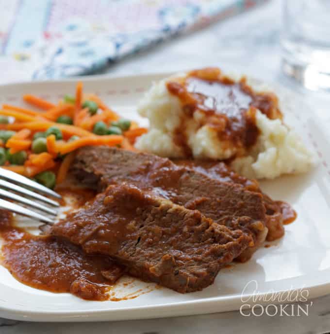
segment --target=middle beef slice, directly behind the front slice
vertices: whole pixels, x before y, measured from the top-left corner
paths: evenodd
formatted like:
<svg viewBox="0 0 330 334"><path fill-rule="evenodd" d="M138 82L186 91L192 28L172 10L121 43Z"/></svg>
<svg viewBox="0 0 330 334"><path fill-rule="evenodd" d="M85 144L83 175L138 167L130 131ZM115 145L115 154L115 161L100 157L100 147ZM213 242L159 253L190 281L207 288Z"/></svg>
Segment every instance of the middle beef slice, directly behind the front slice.
<svg viewBox="0 0 330 334"><path fill-rule="evenodd" d="M84 147L72 167L84 184L104 189L109 184L129 182L187 209L199 210L214 222L252 236L254 246L239 261L247 261L265 239L263 196L238 184L221 182L167 158L109 147Z"/></svg>

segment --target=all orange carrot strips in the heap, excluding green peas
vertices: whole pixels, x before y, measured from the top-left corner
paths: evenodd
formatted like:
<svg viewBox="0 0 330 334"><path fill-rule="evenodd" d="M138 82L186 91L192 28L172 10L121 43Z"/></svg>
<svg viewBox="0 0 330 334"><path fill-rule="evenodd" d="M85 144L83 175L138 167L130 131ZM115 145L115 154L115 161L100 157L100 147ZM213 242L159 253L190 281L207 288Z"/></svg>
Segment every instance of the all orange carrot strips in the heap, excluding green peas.
<svg viewBox="0 0 330 334"><path fill-rule="evenodd" d="M66 178L76 149L86 145L107 145L134 151L135 148L132 144L136 137L147 132L145 128L139 128L138 124L132 121L130 129L122 136L95 135L93 133L95 123L103 121L109 126L111 122L117 121L120 117L99 96L83 94L82 82L78 82L76 85L74 104L66 103L64 100L52 104L32 94L24 95L23 99L26 103L39 109L31 110L10 104L2 105L3 110L0 110L0 115L13 117L14 123L0 124L0 129L15 130L16 134L6 143L0 140L0 147L7 147L12 154L22 150L26 151L28 158L24 166L13 166L6 161L3 168L28 177L51 170L57 175L56 182L61 183ZM82 103L86 100L93 101L98 105L99 111L95 115L90 115L88 108L82 109ZM73 125L56 123L58 117L63 115L72 117ZM33 154L31 152L33 135L37 131L45 132L51 126L61 130L63 140L56 140L55 135L50 135L46 138L47 152ZM68 141L72 136L79 138ZM61 163L58 161L59 155L66 155Z"/></svg>

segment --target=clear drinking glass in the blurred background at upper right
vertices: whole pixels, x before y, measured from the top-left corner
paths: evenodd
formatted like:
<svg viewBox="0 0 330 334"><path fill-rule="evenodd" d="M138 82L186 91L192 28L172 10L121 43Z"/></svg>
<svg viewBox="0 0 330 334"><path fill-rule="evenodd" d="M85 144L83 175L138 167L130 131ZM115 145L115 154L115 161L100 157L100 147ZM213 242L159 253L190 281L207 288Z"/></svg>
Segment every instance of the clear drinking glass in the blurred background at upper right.
<svg viewBox="0 0 330 334"><path fill-rule="evenodd" d="M330 0L283 0L283 71L330 91Z"/></svg>

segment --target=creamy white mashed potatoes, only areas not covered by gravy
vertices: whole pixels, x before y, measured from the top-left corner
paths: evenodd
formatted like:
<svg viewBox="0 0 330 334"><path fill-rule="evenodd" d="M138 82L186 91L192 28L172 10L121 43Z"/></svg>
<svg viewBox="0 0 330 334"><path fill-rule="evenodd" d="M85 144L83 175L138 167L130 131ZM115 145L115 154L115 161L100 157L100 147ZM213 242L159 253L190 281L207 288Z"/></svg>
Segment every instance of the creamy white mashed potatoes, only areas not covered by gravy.
<svg viewBox="0 0 330 334"><path fill-rule="evenodd" d="M174 132L186 116L179 98L166 88L167 81L182 76L184 74L155 83L140 101L138 112L148 118L150 130L136 141L135 146L139 150L162 157L184 158L182 147L174 142ZM251 85L250 82L248 84ZM253 89L264 91L265 87ZM285 110L282 111L285 113ZM207 124L200 126L203 117L205 115L197 111L185 121L185 137L194 158L228 159L240 155L231 166L249 178L303 173L315 163L314 155L293 130L280 119L271 120L259 110L256 112L256 125L260 135L256 144L243 156L229 142L220 141L214 128Z"/></svg>

